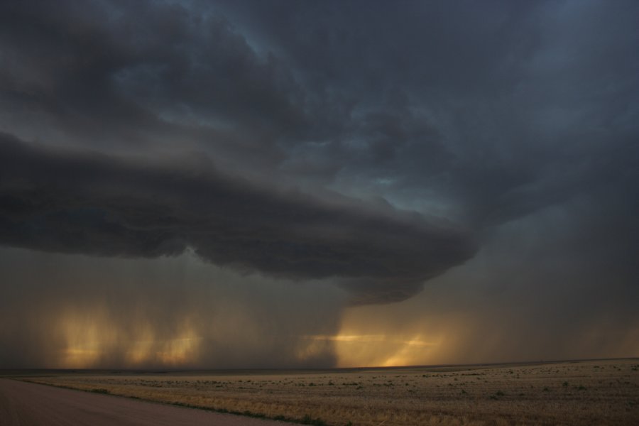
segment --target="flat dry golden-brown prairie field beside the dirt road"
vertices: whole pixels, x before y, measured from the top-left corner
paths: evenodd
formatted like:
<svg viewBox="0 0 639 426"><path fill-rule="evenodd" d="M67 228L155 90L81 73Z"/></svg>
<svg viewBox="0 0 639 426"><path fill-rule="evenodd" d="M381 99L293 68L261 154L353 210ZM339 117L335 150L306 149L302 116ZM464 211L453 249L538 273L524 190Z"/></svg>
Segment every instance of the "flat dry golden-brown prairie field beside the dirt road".
<svg viewBox="0 0 639 426"><path fill-rule="evenodd" d="M639 359L21 380L310 425L639 425Z"/></svg>

